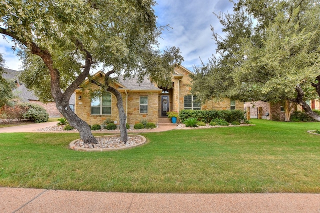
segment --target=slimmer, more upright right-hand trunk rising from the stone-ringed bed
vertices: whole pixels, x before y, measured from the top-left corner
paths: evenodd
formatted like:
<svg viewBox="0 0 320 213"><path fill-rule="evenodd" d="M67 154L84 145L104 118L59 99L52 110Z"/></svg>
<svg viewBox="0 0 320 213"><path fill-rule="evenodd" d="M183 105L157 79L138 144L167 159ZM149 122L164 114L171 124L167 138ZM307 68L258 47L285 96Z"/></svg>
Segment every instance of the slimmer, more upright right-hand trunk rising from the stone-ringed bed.
<svg viewBox="0 0 320 213"><path fill-rule="evenodd" d="M120 141L126 143L128 140L128 134L125 126L126 115L123 108L122 95L115 88L109 86L107 91L111 92L116 97L116 106L119 114L119 129L120 129Z"/></svg>

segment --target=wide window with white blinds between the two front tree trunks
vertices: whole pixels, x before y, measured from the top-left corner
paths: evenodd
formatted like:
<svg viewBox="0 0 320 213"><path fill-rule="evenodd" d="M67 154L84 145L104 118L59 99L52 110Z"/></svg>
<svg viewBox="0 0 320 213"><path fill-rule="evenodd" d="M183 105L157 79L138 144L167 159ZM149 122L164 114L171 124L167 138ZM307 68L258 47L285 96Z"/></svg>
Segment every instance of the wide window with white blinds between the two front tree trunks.
<svg viewBox="0 0 320 213"><path fill-rule="evenodd" d="M102 92L101 97L92 99L91 115L111 115L111 94Z"/></svg>

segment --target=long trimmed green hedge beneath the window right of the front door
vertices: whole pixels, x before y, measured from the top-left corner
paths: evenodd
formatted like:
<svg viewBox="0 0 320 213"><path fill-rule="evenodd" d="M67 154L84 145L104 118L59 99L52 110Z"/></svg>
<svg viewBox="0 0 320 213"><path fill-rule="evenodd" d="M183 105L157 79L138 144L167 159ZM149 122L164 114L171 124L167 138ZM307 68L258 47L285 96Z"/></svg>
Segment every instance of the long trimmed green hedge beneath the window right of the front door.
<svg viewBox="0 0 320 213"><path fill-rule="evenodd" d="M221 118L228 123L232 121L244 120L244 113L242 110L181 110L179 114L180 121L187 118L196 118L198 121L209 123L215 118Z"/></svg>

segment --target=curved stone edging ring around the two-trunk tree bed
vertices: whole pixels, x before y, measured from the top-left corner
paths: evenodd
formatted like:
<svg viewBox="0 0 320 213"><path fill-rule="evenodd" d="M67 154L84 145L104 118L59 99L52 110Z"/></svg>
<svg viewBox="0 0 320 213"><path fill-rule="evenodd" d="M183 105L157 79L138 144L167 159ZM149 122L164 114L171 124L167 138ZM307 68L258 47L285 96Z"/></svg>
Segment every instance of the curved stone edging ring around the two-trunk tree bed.
<svg viewBox="0 0 320 213"><path fill-rule="evenodd" d="M109 137L114 137L114 136L120 136L120 135L101 135L101 136L95 136L95 138L109 138ZM128 136L138 136L138 137L142 138L142 142L141 142L141 143L138 143L138 144L135 144L135 145L132 145L132 146L128 146L128 147L119 147L119 148L93 148L93 149L88 149L88 148L77 147L76 145L74 145L74 143L75 143L76 141L81 140L81 139L79 138L79 139L75 139L75 140L71 141L71 143L69 144L69 148L70 148L71 150L74 150L74 151L83 151L83 152L108 152L108 151L116 151L116 150L130 149L130 148L137 147L137 146L140 146L140 145L142 145L142 144L145 144L145 142L146 142L145 137L143 137L142 135L132 135L132 134L128 134Z"/></svg>

